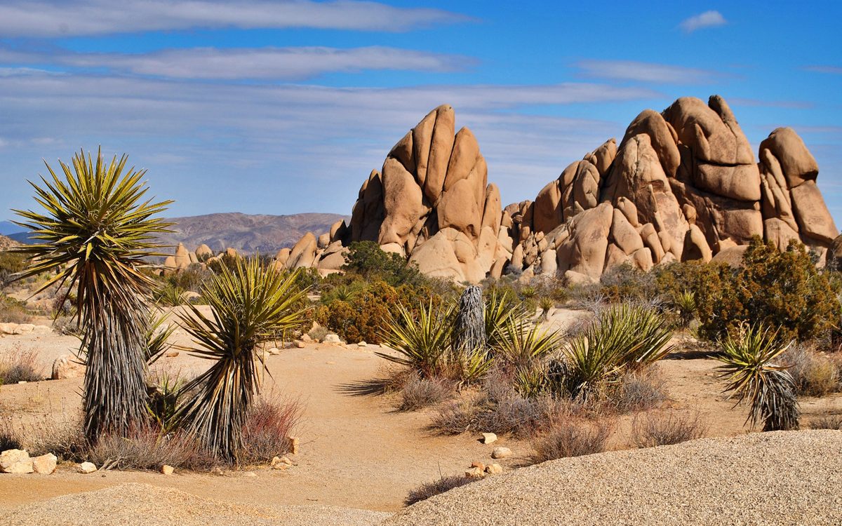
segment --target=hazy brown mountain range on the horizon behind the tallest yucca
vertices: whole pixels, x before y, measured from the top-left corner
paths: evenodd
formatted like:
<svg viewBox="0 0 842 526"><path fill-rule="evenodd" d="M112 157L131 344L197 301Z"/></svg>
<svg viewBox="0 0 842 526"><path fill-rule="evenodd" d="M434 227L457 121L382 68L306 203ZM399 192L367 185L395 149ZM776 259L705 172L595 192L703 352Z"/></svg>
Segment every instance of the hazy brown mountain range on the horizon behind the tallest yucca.
<svg viewBox="0 0 842 526"><path fill-rule="evenodd" d="M226 214L194 215L169 219L172 234L159 236L165 245L184 243L189 250L205 243L216 252L227 247L240 252L263 252L274 254L283 247L291 247L306 232L318 236L338 220L350 220L348 215L339 214L292 214L292 215L248 215L237 212ZM0 235L16 242L29 242L29 236L10 221L0 221ZM169 252L169 251L167 251Z"/></svg>

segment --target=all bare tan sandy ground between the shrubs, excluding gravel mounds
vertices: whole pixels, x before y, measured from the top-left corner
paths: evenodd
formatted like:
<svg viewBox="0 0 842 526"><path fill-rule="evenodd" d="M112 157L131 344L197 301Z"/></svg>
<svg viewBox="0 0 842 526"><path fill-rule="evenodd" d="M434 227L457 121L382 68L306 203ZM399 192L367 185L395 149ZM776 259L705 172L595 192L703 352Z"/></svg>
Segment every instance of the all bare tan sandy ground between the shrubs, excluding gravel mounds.
<svg viewBox="0 0 842 526"><path fill-rule="evenodd" d="M578 311L555 311L551 323L559 327L583 316ZM186 343L184 334L177 336ZM23 335L0 337L0 354L16 348L34 348L49 375L57 356L77 348L73 337ZM381 373L385 360L375 346L360 348L311 344L282 349L268 357L264 391L300 398L306 407L298 434L301 452L296 466L287 471L258 466L247 472L177 474L107 471L77 474L72 465L60 466L52 476L0 476L0 514L19 505L47 498L108 488L123 483L143 483L173 488L189 494L232 504L259 506L323 505L376 511L397 511L408 491L424 482L464 472L473 460L488 463L491 450L505 445L514 456L500 461L509 470L522 465L529 444L501 438L483 445L477 437L442 437L430 433L426 412L397 412L395 401L383 396L359 396L349 386L360 385ZM164 358L156 367L184 372L200 370L204 360L184 351ZM660 365L669 391L669 406L697 409L708 424L708 436L733 436L747 432L746 412L733 408L722 395L717 362L711 359L667 359ZM80 406L81 380L55 380L0 387L0 415L13 414L18 422L50 422L67 418ZM812 417L842 413L842 396L803 399L804 422ZM616 449L627 443L630 426L625 417L613 440ZM624 427L625 426L625 427Z"/></svg>

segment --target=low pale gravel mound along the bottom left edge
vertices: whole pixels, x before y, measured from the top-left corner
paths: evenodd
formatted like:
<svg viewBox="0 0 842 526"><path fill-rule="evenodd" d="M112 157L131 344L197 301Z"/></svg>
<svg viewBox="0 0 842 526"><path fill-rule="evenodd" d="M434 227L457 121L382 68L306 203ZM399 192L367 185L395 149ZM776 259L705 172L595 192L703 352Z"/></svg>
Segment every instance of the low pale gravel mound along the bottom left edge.
<svg viewBox="0 0 842 526"><path fill-rule="evenodd" d="M0 518L0 523L8 526L371 526L387 516L388 513L328 506L258 507L231 504L171 488L131 483L28 504Z"/></svg>

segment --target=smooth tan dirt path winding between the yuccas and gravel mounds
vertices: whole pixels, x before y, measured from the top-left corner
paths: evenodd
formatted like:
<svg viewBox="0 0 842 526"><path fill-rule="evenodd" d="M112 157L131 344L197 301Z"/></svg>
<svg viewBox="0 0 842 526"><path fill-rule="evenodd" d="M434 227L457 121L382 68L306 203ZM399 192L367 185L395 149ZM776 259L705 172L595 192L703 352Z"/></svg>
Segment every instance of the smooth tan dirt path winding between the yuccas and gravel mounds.
<svg viewBox="0 0 842 526"><path fill-rule="evenodd" d="M192 368L194 359L170 359L168 367ZM408 491L440 476L464 472L472 460L489 459L491 445L470 436L440 437L426 430L424 412L396 412L383 397L352 396L344 386L375 378L385 360L374 349L313 345L269 357L267 391L299 396L306 407L299 432L301 453L287 471L256 468L228 476L109 471L80 475L64 466L53 476L0 477L0 510L26 502L121 482L144 482L200 497L257 504L329 504L397 510ZM27 407L27 414L58 414L78 406L79 380L3 386L0 407ZM501 440L526 453L525 444ZM497 444L495 444L497 445ZM516 455L505 463L517 462Z"/></svg>

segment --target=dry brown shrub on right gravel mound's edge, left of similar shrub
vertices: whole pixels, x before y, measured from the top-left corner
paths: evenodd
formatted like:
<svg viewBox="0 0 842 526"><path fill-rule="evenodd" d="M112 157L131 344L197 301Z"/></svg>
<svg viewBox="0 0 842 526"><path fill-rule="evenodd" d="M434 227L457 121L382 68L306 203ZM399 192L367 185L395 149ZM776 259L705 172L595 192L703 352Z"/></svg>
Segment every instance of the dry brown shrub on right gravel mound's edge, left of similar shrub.
<svg viewBox="0 0 842 526"><path fill-rule="evenodd" d="M549 432L532 442L532 449L535 450L532 461L538 464L547 460L602 453L612 428L613 423L607 420L571 418L557 422Z"/></svg>

